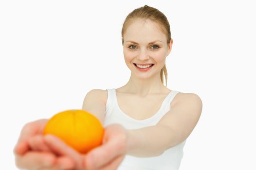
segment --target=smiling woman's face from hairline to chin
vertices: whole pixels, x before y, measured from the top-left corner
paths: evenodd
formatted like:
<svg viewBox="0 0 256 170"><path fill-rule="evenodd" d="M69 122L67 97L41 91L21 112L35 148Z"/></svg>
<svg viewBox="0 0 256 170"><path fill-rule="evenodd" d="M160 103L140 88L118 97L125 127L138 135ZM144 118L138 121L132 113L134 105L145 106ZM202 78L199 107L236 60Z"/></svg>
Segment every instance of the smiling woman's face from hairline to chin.
<svg viewBox="0 0 256 170"><path fill-rule="evenodd" d="M156 23L150 20L134 21L124 33L123 42L125 63L132 74L140 78L154 75L160 77L160 71L172 48L172 40L167 44L167 36ZM150 66L150 68L138 68L145 64L147 66L143 67Z"/></svg>

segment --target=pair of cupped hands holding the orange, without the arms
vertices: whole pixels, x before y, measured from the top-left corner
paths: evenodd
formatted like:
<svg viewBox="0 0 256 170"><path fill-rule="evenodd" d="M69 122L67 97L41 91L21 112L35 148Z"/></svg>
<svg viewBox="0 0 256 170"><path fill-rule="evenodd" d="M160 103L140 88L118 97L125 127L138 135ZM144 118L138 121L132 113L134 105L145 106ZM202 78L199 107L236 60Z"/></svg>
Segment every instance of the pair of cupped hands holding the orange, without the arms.
<svg viewBox="0 0 256 170"><path fill-rule="evenodd" d="M125 156L126 131L118 124L105 128L101 146L87 154L80 154L56 136L43 136L47 121L40 119L28 123L22 129L15 148L16 164L19 168L43 167L45 164L39 164L38 160L51 159L51 166L57 168L64 165L75 170L115 170Z"/></svg>

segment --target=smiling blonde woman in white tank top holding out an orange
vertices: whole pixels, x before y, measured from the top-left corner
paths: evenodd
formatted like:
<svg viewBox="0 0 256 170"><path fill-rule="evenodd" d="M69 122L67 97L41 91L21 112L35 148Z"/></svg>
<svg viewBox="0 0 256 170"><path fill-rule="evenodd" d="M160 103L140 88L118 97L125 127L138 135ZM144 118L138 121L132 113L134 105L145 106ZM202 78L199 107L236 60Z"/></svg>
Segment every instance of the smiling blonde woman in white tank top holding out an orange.
<svg viewBox="0 0 256 170"><path fill-rule="evenodd" d="M24 126L14 150L19 168L37 170L178 170L186 138L201 115L194 93L167 84L165 59L172 49L170 25L156 8L145 5L122 28L130 80L117 89L93 89L82 109L104 125L103 144L82 155L55 136L42 136L47 119Z"/></svg>

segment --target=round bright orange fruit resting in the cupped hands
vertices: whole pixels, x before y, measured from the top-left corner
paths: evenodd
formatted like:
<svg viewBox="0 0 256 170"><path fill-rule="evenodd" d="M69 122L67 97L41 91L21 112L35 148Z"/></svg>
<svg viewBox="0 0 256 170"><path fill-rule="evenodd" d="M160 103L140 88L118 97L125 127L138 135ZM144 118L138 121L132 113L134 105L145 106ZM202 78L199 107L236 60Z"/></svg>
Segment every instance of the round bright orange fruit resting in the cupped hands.
<svg viewBox="0 0 256 170"><path fill-rule="evenodd" d="M66 110L48 120L43 135L58 136L79 153L102 144L104 129L100 121L84 110Z"/></svg>

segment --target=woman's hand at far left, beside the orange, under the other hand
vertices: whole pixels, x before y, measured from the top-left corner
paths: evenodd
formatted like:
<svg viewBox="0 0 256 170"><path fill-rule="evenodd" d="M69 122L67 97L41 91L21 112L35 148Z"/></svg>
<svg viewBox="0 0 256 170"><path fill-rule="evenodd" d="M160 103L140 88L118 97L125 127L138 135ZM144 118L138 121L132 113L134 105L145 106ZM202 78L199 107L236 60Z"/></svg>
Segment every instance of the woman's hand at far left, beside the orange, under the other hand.
<svg viewBox="0 0 256 170"><path fill-rule="evenodd" d="M15 163L26 170L72 170L75 162L66 155L58 155L44 143L43 129L48 119L27 123L21 130L14 148Z"/></svg>

